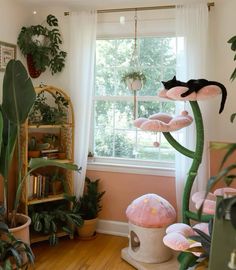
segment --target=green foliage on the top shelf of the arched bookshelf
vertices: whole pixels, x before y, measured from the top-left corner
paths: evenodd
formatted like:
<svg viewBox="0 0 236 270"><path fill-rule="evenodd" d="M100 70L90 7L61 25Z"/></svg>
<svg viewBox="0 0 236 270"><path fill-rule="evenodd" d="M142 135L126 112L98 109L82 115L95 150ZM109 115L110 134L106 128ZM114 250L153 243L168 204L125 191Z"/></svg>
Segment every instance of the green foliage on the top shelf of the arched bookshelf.
<svg viewBox="0 0 236 270"><path fill-rule="evenodd" d="M52 95L56 107L47 103L45 92L41 91L35 100L34 106L29 114L29 121L32 124L63 124L66 121L66 108L68 108L68 100L59 92Z"/></svg>

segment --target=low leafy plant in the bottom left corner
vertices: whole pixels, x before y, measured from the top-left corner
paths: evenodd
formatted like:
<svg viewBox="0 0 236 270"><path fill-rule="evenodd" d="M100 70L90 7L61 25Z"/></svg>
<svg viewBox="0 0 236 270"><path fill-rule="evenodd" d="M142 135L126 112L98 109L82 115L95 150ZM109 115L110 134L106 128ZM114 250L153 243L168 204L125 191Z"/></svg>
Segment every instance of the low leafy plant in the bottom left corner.
<svg viewBox="0 0 236 270"><path fill-rule="evenodd" d="M4 208L0 207L4 213ZM34 254L27 243L18 240L9 232L8 226L0 221L0 270L27 269L34 263Z"/></svg>

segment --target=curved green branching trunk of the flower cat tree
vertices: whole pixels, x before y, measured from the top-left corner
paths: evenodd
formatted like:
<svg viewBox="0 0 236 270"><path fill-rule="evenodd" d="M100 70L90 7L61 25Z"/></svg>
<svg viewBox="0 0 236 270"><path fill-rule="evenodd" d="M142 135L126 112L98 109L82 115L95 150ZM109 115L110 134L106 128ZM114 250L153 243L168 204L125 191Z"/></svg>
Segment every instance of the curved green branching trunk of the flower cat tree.
<svg viewBox="0 0 236 270"><path fill-rule="evenodd" d="M166 140L181 154L186 157L193 159L192 165L187 174L187 180L185 183L183 201L182 201L182 221L183 223L190 224L190 220L201 220L208 221L211 216L210 215L202 215L201 219L199 219L197 213L191 212L189 210L189 200L191 195L191 190L193 187L194 180L197 176L197 172L199 166L202 162L203 148L204 148L204 128L202 121L202 114L200 108L198 106L197 101L190 101L190 105L193 111L193 116L195 119L196 125L196 145L195 151L191 151L184 146L182 146L179 142L177 142L170 133L164 132Z"/></svg>

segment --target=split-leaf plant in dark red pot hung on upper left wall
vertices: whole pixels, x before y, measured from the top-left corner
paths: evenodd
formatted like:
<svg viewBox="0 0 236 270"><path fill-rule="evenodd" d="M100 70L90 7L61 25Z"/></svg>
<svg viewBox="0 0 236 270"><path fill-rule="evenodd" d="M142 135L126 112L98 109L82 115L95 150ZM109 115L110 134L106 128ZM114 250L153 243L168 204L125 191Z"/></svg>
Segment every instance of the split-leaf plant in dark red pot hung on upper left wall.
<svg viewBox="0 0 236 270"><path fill-rule="evenodd" d="M22 27L17 44L27 57L30 76L37 78L47 67L52 75L60 72L65 66L66 52L60 49L62 39L58 29L58 20L48 15L47 26L32 25Z"/></svg>

